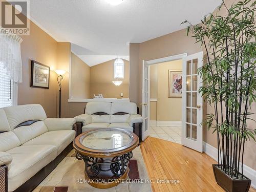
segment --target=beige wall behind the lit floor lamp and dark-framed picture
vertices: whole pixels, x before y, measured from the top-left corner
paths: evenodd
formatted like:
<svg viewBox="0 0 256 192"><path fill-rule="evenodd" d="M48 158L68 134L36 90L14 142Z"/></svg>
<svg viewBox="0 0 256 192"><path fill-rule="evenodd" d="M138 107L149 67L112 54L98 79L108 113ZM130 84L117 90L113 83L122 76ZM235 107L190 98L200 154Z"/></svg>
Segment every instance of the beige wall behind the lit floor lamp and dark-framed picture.
<svg viewBox="0 0 256 192"><path fill-rule="evenodd" d="M18 84L18 104L41 104L48 117L57 117L58 114L58 84L56 69L69 72L70 42L57 42L46 32L30 21L30 35L21 36L23 82ZM30 70L31 59L50 66L50 88L31 88ZM62 116L69 117L69 73L62 81Z"/></svg>

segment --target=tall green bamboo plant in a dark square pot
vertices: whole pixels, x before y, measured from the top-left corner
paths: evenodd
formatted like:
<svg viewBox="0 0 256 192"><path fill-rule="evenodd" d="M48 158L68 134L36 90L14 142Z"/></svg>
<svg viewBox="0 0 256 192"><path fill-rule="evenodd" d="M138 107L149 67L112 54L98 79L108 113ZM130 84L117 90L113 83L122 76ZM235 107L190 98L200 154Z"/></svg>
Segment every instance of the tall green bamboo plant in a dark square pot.
<svg viewBox="0 0 256 192"><path fill-rule="evenodd" d="M243 162L245 142L255 141L256 135L255 123L248 126L256 100L255 4L245 0L227 8L223 1L217 14L205 16L202 24L183 22L189 24L187 35L193 34L206 52L205 65L198 69L203 79L199 92L214 113L203 124L217 132L218 164L212 167L226 191L248 191L251 183L243 175ZM221 8L225 16L219 15Z"/></svg>

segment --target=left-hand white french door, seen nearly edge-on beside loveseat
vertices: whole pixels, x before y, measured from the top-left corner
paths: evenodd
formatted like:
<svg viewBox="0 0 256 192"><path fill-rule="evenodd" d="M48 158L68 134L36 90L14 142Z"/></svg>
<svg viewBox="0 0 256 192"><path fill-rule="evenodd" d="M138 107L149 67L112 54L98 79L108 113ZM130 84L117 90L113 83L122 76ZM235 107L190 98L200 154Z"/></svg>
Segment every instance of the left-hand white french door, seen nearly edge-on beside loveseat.
<svg viewBox="0 0 256 192"><path fill-rule="evenodd" d="M150 66L143 60L142 67L142 140L144 141L150 130Z"/></svg>

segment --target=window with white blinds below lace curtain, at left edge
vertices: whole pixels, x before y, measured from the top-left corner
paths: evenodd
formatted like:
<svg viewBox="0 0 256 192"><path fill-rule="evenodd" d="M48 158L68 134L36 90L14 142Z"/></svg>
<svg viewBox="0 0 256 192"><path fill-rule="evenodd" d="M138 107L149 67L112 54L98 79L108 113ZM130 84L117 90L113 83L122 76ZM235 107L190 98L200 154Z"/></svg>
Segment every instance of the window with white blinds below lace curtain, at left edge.
<svg viewBox="0 0 256 192"><path fill-rule="evenodd" d="M0 108L13 105L13 81L7 70L4 68L4 63L0 62Z"/></svg>

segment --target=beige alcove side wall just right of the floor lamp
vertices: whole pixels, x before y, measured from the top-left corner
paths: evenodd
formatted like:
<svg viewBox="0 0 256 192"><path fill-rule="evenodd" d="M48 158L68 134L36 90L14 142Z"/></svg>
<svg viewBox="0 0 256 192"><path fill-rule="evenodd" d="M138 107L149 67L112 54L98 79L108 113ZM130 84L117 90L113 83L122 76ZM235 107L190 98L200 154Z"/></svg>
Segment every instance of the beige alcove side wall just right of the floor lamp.
<svg viewBox="0 0 256 192"><path fill-rule="evenodd" d="M71 53L71 98L90 98L91 68Z"/></svg>

